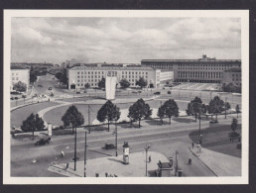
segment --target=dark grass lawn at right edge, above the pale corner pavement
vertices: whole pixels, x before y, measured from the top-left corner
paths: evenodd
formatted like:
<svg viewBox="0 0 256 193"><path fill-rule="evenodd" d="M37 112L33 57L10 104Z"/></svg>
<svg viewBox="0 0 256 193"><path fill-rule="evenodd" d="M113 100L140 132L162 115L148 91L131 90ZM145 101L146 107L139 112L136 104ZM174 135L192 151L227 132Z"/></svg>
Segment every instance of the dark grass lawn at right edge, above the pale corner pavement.
<svg viewBox="0 0 256 193"><path fill-rule="evenodd" d="M237 141L230 143L228 133L230 133L230 126L219 125L216 128L207 128L201 131L202 146L211 150L215 150L221 153L229 154L232 156L241 157L241 150L236 148ZM237 132L241 133L241 125L238 125ZM190 134L192 142L198 144L199 132L193 131Z"/></svg>

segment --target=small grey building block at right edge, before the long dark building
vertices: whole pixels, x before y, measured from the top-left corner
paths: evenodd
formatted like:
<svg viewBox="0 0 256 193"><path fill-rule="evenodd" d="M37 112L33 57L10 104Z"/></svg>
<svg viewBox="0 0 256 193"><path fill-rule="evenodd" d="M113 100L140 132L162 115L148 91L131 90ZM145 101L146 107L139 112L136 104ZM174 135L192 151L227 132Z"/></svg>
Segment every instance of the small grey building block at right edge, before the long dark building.
<svg viewBox="0 0 256 193"><path fill-rule="evenodd" d="M241 69L231 68L223 72L222 83L232 82L236 86L241 86Z"/></svg>

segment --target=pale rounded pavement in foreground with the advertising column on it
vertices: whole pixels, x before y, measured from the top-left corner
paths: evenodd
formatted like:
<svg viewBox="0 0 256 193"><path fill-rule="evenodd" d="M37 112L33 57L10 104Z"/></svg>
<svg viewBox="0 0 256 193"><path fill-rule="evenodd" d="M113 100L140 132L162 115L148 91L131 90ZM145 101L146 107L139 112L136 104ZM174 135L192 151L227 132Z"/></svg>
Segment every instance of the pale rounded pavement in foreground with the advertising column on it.
<svg viewBox="0 0 256 193"><path fill-rule="evenodd" d="M118 177L146 177L146 155L145 151L130 153L129 164L123 164L123 155L107 156L102 158L89 159L86 161L86 176L95 177L98 173L99 177L105 177L105 173L117 175ZM148 156L151 155L151 162L148 162L148 176L155 173L158 169L158 162L169 162L168 158L154 151L149 151ZM64 170L66 163L54 164L48 170L56 172L68 177L83 176L84 162L76 162L76 171L73 170L73 162L69 162L69 166ZM174 171L172 171L174 173Z"/></svg>

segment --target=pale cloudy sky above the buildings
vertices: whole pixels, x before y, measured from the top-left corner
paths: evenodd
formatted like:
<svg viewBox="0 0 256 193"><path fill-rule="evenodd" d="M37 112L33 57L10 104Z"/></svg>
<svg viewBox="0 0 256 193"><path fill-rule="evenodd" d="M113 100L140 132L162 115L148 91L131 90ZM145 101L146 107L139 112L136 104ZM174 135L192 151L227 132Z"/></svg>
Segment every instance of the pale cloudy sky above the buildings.
<svg viewBox="0 0 256 193"><path fill-rule="evenodd" d="M241 58L239 18L12 18L11 61Z"/></svg>

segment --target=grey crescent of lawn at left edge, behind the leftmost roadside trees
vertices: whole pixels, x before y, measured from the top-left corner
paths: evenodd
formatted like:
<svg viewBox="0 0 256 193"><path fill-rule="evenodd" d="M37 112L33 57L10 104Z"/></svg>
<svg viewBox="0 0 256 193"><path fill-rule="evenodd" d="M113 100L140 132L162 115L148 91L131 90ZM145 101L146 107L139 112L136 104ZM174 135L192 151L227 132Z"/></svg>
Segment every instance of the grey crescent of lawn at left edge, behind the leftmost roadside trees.
<svg viewBox="0 0 256 193"><path fill-rule="evenodd" d="M30 114L37 114L40 110L57 104L58 103L56 102L35 103L33 105L28 105L26 107L16 109L11 112L11 126L20 127L22 122L26 120Z"/></svg>

